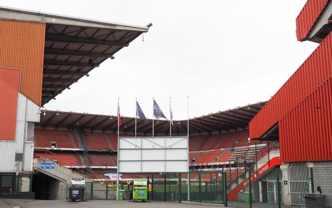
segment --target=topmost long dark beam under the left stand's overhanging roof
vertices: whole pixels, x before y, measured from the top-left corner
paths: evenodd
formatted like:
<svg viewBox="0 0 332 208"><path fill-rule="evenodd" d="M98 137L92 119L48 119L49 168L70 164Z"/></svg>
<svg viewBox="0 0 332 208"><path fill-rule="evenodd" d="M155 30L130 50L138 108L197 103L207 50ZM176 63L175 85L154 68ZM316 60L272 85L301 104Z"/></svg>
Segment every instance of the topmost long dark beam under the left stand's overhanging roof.
<svg viewBox="0 0 332 208"><path fill-rule="evenodd" d="M128 43L121 43L116 41L108 41L108 40L97 40L90 38L79 38L74 36L66 36L66 35L53 35L46 34L45 41L50 42L58 42L58 43L76 43L76 44L88 44L88 45L103 45L103 46L121 46L127 47Z"/></svg>

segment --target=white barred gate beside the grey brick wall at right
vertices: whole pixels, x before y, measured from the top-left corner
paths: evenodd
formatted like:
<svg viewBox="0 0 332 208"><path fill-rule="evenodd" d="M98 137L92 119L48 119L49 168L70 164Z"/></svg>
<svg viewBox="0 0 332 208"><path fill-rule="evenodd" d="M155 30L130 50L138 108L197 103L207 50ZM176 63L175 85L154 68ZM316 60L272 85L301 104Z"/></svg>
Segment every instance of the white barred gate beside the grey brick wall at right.
<svg viewBox="0 0 332 208"><path fill-rule="evenodd" d="M290 175L290 205L301 205L303 198L301 193L309 192L309 167L305 162L291 163Z"/></svg>

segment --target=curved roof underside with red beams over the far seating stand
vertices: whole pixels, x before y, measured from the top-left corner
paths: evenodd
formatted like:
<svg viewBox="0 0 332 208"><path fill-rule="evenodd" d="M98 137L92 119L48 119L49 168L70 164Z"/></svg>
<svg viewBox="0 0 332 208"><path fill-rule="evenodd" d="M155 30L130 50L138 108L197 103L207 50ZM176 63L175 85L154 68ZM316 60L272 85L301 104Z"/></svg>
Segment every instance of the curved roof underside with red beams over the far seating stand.
<svg viewBox="0 0 332 208"><path fill-rule="evenodd" d="M222 133L248 128L249 121L266 103L267 101L191 118L189 119L189 131L191 133L211 133L213 131ZM43 115L44 112L46 115ZM122 116L121 122L120 132L132 135L135 130L135 118ZM137 118L136 122L137 134L152 135L152 119L147 119L147 121L144 122L144 120ZM117 133L118 131L118 118L116 115L42 110L40 123L43 125L43 128L49 125L55 126L55 129L64 126L67 129L80 127L82 129L87 128L87 130L91 131L96 129L113 133ZM173 124L174 125L171 127L172 135L187 135L187 120L174 120ZM169 128L169 120L154 120L155 133L163 132L165 135L169 135Z"/></svg>

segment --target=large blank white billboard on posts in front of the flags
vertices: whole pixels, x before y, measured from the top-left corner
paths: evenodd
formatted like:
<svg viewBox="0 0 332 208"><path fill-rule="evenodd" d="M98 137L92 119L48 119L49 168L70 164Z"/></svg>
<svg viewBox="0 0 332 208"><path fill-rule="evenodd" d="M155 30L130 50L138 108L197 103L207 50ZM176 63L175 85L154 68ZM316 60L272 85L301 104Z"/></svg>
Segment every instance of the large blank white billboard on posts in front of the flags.
<svg viewBox="0 0 332 208"><path fill-rule="evenodd" d="M120 137L118 168L126 172L187 172L188 137Z"/></svg>

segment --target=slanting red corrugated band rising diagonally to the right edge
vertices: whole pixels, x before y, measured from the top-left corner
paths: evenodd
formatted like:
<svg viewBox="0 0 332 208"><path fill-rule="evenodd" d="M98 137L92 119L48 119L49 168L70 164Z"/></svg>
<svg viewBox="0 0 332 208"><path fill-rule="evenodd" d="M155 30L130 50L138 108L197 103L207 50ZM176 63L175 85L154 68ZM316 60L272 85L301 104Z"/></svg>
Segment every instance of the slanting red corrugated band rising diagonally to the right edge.
<svg viewBox="0 0 332 208"><path fill-rule="evenodd" d="M332 75L331 33L249 122L250 138L261 137Z"/></svg>

